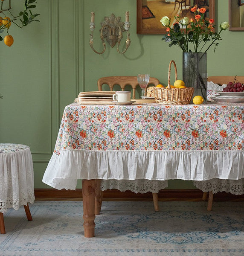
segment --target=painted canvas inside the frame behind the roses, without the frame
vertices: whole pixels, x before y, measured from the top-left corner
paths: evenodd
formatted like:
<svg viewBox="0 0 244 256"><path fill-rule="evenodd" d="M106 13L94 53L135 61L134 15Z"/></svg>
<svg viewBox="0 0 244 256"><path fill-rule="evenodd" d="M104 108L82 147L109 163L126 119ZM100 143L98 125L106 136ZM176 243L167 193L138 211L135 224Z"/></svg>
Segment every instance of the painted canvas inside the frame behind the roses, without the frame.
<svg viewBox="0 0 244 256"><path fill-rule="evenodd" d="M162 29L160 19L168 16L173 26L174 16L194 18L192 7L206 8L206 19L209 18L209 0L142 0L142 28Z"/></svg>

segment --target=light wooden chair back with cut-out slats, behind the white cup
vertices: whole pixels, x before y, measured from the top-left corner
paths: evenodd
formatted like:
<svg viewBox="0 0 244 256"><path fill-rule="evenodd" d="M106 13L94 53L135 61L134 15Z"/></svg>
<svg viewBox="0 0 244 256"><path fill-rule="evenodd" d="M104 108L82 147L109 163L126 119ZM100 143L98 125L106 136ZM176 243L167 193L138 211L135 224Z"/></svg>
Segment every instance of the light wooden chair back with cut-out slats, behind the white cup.
<svg viewBox="0 0 244 256"><path fill-rule="evenodd" d="M113 90L116 84L121 87L121 90L125 90L125 86L130 85L132 87L132 99L136 99L136 87L139 86L137 76L107 76L99 78L97 81L99 91L102 91L103 84L107 84L110 91ZM160 84L160 81L157 78L150 77L148 85L149 84L157 86Z"/></svg>

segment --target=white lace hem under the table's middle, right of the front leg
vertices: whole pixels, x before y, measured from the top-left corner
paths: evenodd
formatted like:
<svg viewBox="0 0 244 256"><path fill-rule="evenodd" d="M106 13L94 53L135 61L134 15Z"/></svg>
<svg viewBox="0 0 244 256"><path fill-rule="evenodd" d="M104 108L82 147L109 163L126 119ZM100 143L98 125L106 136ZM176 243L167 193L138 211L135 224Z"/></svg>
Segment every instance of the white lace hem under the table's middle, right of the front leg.
<svg viewBox="0 0 244 256"><path fill-rule="evenodd" d="M119 191L130 190L135 193L158 193L160 189L168 186L168 180L102 180L101 190L119 189Z"/></svg>

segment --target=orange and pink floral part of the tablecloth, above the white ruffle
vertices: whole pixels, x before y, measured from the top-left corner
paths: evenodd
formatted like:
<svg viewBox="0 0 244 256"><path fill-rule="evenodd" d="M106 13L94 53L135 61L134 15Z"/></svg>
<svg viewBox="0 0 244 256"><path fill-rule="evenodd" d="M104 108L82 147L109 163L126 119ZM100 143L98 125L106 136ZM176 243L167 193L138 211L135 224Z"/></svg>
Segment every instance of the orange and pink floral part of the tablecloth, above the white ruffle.
<svg viewBox="0 0 244 256"><path fill-rule="evenodd" d="M78 150L243 150L244 104L65 107L55 154Z"/></svg>

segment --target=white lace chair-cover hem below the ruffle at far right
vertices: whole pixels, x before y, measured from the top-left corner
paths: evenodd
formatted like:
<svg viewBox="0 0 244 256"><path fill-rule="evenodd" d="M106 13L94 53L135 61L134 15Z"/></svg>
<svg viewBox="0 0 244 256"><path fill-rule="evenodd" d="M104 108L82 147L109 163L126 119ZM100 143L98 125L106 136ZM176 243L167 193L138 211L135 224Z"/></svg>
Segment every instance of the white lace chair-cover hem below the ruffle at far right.
<svg viewBox="0 0 244 256"><path fill-rule="evenodd" d="M230 192L233 195L244 194L244 178L240 180L221 180L212 179L205 181L194 181L194 185L203 192L212 191L214 194L217 192Z"/></svg>

